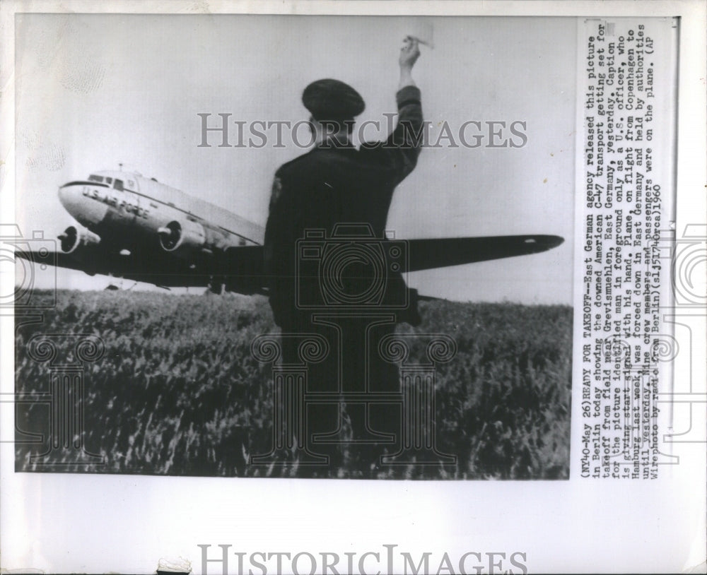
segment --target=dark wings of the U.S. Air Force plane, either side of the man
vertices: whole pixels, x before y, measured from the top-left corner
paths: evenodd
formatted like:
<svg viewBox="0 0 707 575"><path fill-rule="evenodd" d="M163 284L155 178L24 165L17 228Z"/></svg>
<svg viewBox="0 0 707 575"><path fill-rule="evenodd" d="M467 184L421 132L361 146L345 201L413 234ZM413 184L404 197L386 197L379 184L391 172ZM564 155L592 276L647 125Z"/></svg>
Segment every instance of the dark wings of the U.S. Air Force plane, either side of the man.
<svg viewBox="0 0 707 575"><path fill-rule="evenodd" d="M559 246L563 238L551 235L460 237L407 240L407 271L421 271L492 259L537 254ZM135 254L117 254L99 246L74 254L17 250L22 259L40 265L71 268L95 275L112 275L151 283L163 288L211 287L223 285L227 291L267 293L262 269L262 246L232 247L203 259L198 264L170 257L159 249Z"/></svg>

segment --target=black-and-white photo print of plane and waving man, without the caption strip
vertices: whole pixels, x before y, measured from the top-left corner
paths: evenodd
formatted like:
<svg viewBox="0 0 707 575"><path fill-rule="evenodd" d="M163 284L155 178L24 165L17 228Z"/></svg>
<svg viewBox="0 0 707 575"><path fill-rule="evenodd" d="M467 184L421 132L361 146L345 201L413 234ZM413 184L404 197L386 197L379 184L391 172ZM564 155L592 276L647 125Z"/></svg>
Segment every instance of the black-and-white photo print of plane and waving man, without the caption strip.
<svg viewBox="0 0 707 575"><path fill-rule="evenodd" d="M575 35L18 16L17 470L566 479Z"/></svg>

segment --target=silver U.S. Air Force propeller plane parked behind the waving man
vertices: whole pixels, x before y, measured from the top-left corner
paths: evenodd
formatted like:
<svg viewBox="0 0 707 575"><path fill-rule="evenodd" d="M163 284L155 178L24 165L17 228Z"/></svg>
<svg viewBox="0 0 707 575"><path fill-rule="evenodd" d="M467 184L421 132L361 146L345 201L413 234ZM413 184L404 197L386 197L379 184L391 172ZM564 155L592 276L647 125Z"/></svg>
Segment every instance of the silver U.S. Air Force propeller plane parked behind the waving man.
<svg viewBox="0 0 707 575"><path fill-rule="evenodd" d="M61 251L52 260L57 266L163 288L267 293L264 228L224 208L122 171L68 182L59 188L59 200L80 225L59 235ZM535 254L562 242L552 235L409 239L402 271ZM16 254L40 261L33 251Z"/></svg>

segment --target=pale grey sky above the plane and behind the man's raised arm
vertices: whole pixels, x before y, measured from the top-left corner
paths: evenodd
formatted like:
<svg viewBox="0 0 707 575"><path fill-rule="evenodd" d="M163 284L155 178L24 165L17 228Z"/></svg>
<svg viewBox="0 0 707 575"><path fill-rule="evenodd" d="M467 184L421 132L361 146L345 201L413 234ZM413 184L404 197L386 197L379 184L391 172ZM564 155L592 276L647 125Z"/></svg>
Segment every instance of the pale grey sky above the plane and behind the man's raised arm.
<svg viewBox="0 0 707 575"><path fill-rule="evenodd" d="M57 198L59 185L122 162L264 225L276 168L304 150L287 137L282 148L272 140L264 148L219 148L215 135L213 147L199 148L197 114L214 114L214 124L219 113L294 124L308 117L300 101L305 85L329 77L363 95L359 122L385 124L383 114L395 112L397 55L408 33L435 45L422 47L414 69L433 141L445 122L460 143L466 121L524 121L527 143L469 148L443 140L423 150L395 192L388 227L399 238L566 239L546 254L416 273L411 285L455 300L571 303L572 18L18 16L18 223L25 235L45 230L55 237L73 223ZM58 275L66 288L109 283Z"/></svg>

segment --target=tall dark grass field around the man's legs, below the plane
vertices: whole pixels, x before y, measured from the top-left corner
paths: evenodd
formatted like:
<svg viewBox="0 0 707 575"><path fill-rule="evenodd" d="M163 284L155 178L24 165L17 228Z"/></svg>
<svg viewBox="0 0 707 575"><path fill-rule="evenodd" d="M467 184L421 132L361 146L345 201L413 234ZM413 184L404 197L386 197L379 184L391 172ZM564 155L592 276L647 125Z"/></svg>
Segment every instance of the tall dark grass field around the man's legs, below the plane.
<svg viewBox="0 0 707 575"><path fill-rule="evenodd" d="M457 464L397 466L377 476L567 478L571 308L439 301L423 302L421 312L421 326L400 329L457 342L457 355L437 374L437 444ZM271 372L252 357L250 343L274 330L263 297L59 292L43 321L16 329L16 390L49 391L49 362L27 353L33 336L99 336L105 354L84 371L84 445L105 456L105 465L35 466L30 456L47 447L18 441L16 469L298 476L296 461L247 465L249 454L269 451L272 413ZM73 343L65 345L59 356L71 357ZM49 437L47 405L20 403L16 413L19 429ZM349 463L329 474L366 477L350 463L349 447L339 449ZM54 453L61 452L50 458Z"/></svg>

